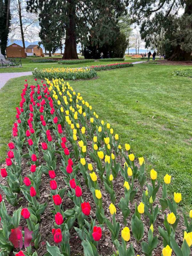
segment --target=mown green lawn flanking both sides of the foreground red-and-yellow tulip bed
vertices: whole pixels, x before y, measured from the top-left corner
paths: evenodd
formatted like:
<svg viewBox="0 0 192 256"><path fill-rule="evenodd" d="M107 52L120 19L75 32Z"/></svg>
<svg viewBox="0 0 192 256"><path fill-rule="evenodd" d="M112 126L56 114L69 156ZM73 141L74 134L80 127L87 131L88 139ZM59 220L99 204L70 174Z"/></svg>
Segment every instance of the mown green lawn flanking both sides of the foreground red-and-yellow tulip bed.
<svg viewBox="0 0 192 256"><path fill-rule="evenodd" d="M166 173L172 175L169 193L181 192L188 210L192 206L192 80L173 76L174 69L138 64L98 72L98 79L70 84L90 102L100 119L111 123L122 145L129 143L136 157L144 156L148 172L154 168L161 179ZM12 79L0 90L1 162L24 78ZM32 76L28 82L33 83Z"/></svg>

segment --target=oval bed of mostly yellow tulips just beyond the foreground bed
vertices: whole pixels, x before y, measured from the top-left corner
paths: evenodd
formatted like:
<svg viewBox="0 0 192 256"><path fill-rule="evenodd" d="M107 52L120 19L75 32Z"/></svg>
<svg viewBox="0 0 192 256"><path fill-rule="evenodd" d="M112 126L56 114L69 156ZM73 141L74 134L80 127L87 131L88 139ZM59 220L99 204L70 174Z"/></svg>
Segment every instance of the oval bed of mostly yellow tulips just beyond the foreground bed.
<svg viewBox="0 0 192 256"><path fill-rule="evenodd" d="M33 76L41 79L63 78L64 80L90 79L97 76L91 68L44 68L33 71Z"/></svg>

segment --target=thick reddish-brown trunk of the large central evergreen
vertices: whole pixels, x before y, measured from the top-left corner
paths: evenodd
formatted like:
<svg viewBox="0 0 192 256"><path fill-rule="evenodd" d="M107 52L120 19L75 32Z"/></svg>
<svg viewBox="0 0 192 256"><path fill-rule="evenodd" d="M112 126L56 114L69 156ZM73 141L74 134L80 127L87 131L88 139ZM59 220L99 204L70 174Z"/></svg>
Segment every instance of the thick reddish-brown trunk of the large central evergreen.
<svg viewBox="0 0 192 256"><path fill-rule="evenodd" d="M63 59L78 59L76 49L76 5L74 0L68 0L68 24L66 24L66 39Z"/></svg>

